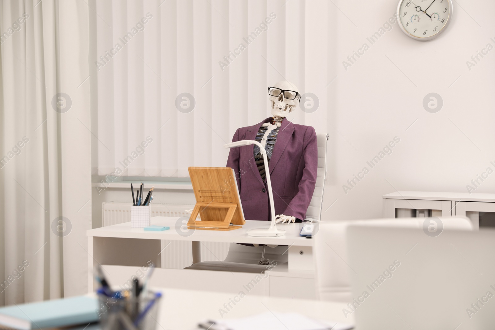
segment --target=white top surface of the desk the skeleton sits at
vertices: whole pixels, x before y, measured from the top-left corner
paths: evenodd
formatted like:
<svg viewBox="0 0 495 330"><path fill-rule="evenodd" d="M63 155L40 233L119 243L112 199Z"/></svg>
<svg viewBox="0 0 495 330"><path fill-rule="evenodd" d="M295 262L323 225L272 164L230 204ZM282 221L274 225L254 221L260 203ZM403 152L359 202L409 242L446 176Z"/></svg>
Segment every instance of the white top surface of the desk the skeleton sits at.
<svg viewBox="0 0 495 330"><path fill-rule="evenodd" d="M184 222L185 221L185 222ZM301 224L281 224L277 228L286 231L280 237L251 237L246 232L254 228L268 228L268 221L246 220L246 224L241 229L233 231L211 231L211 230L191 230L186 229L187 218L178 217L152 217L151 225L167 226L169 230L163 232L144 231L142 228L131 228L131 223L90 229L88 236L98 237L120 237L120 238L143 238L143 239L169 239L204 242L228 242L228 243L256 243L256 244L277 244L297 246L313 246L313 240L299 236Z"/></svg>

